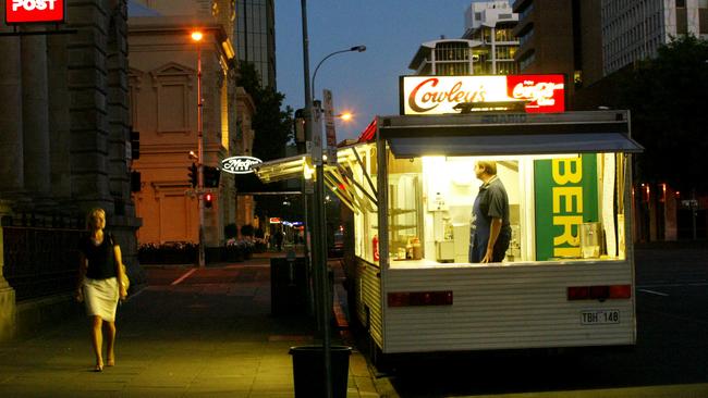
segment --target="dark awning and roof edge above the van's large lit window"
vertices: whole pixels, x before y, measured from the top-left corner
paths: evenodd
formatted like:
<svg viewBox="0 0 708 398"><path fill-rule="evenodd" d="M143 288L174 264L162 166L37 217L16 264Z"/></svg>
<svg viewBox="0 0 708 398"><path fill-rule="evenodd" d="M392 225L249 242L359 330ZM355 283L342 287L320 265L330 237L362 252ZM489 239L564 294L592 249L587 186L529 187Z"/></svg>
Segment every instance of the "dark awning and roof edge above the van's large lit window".
<svg viewBox="0 0 708 398"><path fill-rule="evenodd" d="M626 111L381 116L378 126L399 158L644 150Z"/></svg>

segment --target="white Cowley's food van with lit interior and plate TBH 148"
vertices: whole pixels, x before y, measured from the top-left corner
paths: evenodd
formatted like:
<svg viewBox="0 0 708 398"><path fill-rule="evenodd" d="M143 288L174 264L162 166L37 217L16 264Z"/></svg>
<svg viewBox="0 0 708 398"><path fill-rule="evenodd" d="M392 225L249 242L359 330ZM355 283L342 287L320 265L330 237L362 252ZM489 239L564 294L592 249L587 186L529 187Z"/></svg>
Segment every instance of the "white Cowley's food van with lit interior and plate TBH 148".
<svg viewBox="0 0 708 398"><path fill-rule="evenodd" d="M430 108L419 82L402 109ZM630 113L500 111L516 107L510 98L479 101L488 111L378 116L325 167L353 212L349 306L377 352L636 343L630 157L642 147ZM512 237L498 263L468 261L479 160L496 162L509 196ZM293 158L257 173L303 167Z"/></svg>

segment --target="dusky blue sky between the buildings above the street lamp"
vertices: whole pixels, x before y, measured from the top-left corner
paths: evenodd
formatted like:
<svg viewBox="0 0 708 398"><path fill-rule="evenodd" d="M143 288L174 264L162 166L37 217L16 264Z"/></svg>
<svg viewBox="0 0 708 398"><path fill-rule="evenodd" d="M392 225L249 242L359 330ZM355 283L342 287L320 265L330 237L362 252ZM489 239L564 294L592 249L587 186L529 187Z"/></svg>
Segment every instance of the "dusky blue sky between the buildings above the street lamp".
<svg viewBox="0 0 708 398"><path fill-rule="evenodd" d="M325 61L317 72L317 97L332 90L337 112L355 119L338 123L337 138L355 138L375 115L399 113L399 76L422 42L441 35L460 38L472 0L309 0L309 70L327 54L365 45ZM276 1L278 90L293 109L305 103L302 15L298 0Z"/></svg>

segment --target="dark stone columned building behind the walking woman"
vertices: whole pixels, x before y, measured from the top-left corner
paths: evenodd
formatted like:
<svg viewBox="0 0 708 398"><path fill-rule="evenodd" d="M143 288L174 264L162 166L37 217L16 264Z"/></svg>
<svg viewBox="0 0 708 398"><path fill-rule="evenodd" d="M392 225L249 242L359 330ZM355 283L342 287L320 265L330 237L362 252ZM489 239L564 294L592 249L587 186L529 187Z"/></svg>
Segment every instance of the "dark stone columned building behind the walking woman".
<svg viewBox="0 0 708 398"><path fill-rule="evenodd" d="M90 208L106 209L139 283L126 22L125 0L69 0L64 24L17 28L62 34L0 36L0 339L48 313L38 300L72 299Z"/></svg>

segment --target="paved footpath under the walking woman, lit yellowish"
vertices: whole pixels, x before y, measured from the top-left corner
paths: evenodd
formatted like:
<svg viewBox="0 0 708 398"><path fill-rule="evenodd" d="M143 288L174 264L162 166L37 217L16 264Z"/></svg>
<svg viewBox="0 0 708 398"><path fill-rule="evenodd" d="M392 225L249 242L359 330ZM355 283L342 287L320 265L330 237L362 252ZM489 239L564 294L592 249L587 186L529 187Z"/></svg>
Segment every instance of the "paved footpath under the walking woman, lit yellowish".
<svg viewBox="0 0 708 398"><path fill-rule="evenodd" d="M119 308L115 366L91 371L88 323L74 316L0 344L0 397L294 396L289 348L317 341L310 319L270 314L268 257L146 270ZM379 397L376 383L354 348L347 398Z"/></svg>

